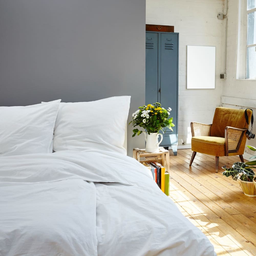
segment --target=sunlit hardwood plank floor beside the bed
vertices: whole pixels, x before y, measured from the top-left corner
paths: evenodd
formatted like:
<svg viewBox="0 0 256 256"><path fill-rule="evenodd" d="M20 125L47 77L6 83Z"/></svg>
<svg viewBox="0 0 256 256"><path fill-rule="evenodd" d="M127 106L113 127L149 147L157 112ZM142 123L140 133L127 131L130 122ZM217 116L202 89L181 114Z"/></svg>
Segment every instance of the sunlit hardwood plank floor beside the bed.
<svg viewBox="0 0 256 256"><path fill-rule="evenodd" d="M170 198L180 211L214 245L217 255L256 255L256 197L245 196L221 166L231 167L239 157L215 157L197 153L189 166L192 151L170 151Z"/></svg>

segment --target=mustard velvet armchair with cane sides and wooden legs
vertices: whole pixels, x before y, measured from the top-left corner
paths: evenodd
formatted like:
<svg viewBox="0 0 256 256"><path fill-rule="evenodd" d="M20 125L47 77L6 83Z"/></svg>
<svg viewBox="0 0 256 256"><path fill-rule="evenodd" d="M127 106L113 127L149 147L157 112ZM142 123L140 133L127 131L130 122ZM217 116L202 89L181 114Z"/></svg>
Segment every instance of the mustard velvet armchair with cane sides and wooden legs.
<svg viewBox="0 0 256 256"><path fill-rule="evenodd" d="M252 116L252 111L247 109L248 124L244 111L244 109L217 107L212 124L191 122L193 154L189 166L193 163L197 152L215 156L216 173L219 156L239 155L241 162L244 162L246 131Z"/></svg>

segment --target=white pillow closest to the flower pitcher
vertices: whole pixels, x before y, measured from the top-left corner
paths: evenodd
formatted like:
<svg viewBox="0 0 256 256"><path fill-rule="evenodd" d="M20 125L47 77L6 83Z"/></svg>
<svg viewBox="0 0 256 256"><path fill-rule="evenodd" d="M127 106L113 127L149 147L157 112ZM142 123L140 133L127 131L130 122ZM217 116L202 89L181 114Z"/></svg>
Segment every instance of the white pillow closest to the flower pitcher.
<svg viewBox="0 0 256 256"><path fill-rule="evenodd" d="M53 150L107 150L126 154L125 128L130 96L63 103L55 123Z"/></svg>

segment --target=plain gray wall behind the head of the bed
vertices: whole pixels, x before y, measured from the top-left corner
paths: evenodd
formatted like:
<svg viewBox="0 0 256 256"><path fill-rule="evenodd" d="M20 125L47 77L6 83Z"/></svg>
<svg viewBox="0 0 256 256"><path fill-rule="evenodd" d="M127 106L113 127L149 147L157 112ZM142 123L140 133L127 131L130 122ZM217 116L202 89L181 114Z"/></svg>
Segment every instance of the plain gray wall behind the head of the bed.
<svg viewBox="0 0 256 256"><path fill-rule="evenodd" d="M145 0L0 0L0 37L0 105L131 95L131 119L144 104Z"/></svg>

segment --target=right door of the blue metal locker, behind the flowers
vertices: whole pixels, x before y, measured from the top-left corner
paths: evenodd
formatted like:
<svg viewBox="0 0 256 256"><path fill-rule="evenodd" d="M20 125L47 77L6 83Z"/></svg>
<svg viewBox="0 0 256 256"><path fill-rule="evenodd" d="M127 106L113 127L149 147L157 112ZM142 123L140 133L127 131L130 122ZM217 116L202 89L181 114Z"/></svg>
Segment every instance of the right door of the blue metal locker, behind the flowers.
<svg viewBox="0 0 256 256"><path fill-rule="evenodd" d="M160 36L160 35L159 35ZM162 146L177 145L178 134L178 35L161 34L161 56L160 56L160 103L164 108L170 107L170 117L173 117L173 132L169 129L163 134Z"/></svg>

